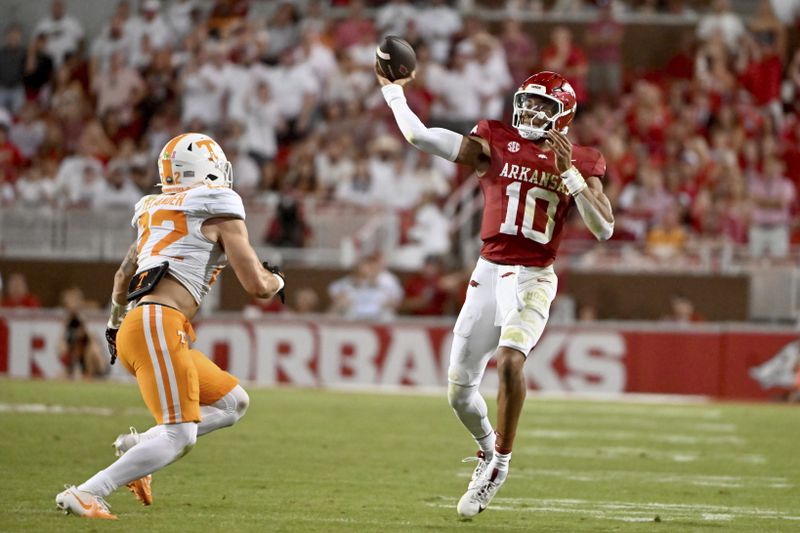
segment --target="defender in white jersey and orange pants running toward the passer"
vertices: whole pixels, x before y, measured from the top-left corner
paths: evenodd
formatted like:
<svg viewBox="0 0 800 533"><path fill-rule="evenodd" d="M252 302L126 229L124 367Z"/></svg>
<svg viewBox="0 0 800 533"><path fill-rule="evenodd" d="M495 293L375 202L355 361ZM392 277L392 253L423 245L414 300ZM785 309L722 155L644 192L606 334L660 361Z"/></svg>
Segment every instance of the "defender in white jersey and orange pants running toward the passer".
<svg viewBox="0 0 800 533"><path fill-rule="evenodd" d="M231 164L219 145L184 133L166 144L158 169L162 194L136 204L138 237L114 276L106 330L112 363L118 357L136 377L156 425L120 435L116 462L56 496L59 509L79 516L116 518L103 498L122 485L149 505L153 472L247 410L238 380L190 347L189 320L228 261L249 294L283 299L283 274L250 246L242 199L231 189Z"/></svg>

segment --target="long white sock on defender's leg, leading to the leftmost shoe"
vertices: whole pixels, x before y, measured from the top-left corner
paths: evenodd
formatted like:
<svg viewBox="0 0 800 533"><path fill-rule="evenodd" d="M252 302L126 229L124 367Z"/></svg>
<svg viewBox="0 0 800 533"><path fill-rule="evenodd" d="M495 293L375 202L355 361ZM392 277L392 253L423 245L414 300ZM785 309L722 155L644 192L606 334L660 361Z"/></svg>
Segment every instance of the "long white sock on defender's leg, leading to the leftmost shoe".
<svg viewBox="0 0 800 533"><path fill-rule="evenodd" d="M185 422L160 425L151 428L147 433L151 434L147 440L140 441L111 466L78 486L78 490L105 498L118 487L161 470L194 446L197 440L197 424Z"/></svg>

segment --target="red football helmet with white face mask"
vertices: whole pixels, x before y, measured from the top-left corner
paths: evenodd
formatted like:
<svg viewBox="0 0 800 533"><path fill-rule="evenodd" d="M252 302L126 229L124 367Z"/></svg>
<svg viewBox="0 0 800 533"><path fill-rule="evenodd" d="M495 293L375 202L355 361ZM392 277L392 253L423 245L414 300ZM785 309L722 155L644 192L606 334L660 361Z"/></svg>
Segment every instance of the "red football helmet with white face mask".
<svg viewBox="0 0 800 533"><path fill-rule="evenodd" d="M566 133L577 107L575 91L561 74L539 72L514 93L511 125L525 139L539 139L553 128ZM534 120L539 124L534 125Z"/></svg>

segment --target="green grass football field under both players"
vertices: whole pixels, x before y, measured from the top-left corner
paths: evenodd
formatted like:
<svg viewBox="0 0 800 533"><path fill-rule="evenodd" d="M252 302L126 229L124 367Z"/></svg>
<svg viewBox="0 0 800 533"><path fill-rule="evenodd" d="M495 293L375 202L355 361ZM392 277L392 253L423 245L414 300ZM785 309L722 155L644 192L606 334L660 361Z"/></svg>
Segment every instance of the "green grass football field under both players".
<svg viewBox="0 0 800 533"><path fill-rule="evenodd" d="M460 522L474 446L444 396L250 394L154 476L153 506L121 490L97 522L54 497L150 425L137 389L0 380L0 531L800 531L796 408L529 398L508 481Z"/></svg>

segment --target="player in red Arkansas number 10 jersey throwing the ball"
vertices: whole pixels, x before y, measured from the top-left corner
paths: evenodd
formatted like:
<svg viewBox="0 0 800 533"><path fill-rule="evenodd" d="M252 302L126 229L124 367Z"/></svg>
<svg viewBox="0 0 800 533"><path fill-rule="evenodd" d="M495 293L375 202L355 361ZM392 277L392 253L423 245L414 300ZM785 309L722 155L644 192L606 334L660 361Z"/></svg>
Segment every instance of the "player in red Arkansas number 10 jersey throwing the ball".
<svg viewBox="0 0 800 533"><path fill-rule="evenodd" d="M453 328L448 369L450 405L480 447L469 487L458 502L458 514L468 518L489 505L508 475L527 390L523 365L556 295L553 261L567 212L574 204L599 240L614 231L601 182L606 163L597 150L567 138L577 107L575 91L555 72L539 72L522 83L514 95L511 125L482 120L466 136L427 128L411 111L403 86L413 75L390 82L376 74L406 140L473 168L483 191L481 257ZM492 354L500 379L494 430L478 392Z"/></svg>

